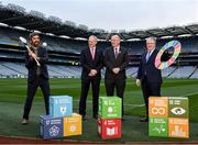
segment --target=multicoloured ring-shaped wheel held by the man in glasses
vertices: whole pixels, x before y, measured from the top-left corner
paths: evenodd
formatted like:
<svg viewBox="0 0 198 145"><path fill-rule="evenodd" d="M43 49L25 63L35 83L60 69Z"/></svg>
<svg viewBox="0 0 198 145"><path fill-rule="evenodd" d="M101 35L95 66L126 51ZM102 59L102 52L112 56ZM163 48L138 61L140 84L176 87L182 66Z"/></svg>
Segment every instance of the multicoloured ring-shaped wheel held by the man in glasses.
<svg viewBox="0 0 198 145"><path fill-rule="evenodd" d="M167 62L161 62L161 57L164 53L164 51L174 47L174 54L173 56L167 60ZM169 67L178 57L179 53L182 49L182 44L178 41L170 41L168 43L166 43L161 51L158 52L156 58L155 58L155 67L157 69L165 69L167 67Z"/></svg>

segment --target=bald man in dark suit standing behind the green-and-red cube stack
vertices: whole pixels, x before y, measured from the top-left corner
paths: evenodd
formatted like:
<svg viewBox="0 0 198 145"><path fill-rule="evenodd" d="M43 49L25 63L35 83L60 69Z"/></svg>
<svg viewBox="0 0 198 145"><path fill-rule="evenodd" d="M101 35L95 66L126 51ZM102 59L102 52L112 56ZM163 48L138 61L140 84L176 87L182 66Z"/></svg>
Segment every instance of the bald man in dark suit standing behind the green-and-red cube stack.
<svg viewBox="0 0 198 145"><path fill-rule="evenodd" d="M114 88L117 96L122 99L122 116L123 116L123 93L125 88L125 68L128 66L128 51L120 46L120 36L111 36L111 47L105 52L106 65L106 91L107 96L113 96Z"/></svg>

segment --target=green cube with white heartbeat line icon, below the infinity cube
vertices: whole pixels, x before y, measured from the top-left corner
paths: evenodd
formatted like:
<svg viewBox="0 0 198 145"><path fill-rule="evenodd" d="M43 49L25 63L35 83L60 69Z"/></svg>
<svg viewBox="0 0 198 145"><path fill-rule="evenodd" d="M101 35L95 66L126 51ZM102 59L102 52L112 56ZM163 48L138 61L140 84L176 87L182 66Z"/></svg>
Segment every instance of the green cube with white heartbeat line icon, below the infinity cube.
<svg viewBox="0 0 198 145"><path fill-rule="evenodd" d="M148 123L150 136L168 136L168 119L167 118L150 118Z"/></svg>

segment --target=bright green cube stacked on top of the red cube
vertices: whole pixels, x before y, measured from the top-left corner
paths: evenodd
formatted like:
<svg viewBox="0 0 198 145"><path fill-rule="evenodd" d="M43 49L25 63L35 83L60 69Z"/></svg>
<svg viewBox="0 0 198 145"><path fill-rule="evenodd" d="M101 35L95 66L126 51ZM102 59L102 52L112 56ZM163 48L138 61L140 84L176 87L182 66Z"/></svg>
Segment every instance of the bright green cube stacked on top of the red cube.
<svg viewBox="0 0 198 145"><path fill-rule="evenodd" d="M121 119L121 104L119 97L100 97L98 114L102 119Z"/></svg>

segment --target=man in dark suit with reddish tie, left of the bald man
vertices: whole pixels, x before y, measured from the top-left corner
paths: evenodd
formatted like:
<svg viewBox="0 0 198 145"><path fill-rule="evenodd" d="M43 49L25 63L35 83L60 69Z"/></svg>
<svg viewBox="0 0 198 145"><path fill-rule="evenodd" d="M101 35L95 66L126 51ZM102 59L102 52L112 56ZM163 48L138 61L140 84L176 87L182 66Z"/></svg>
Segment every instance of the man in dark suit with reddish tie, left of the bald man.
<svg viewBox="0 0 198 145"><path fill-rule="evenodd" d="M86 100L91 83L92 88L92 116L98 118L98 99L100 90L101 68L102 68L102 52L97 47L97 37L89 36L88 47L82 49L80 54L81 71L81 94L79 101L79 113L82 119L86 119Z"/></svg>

